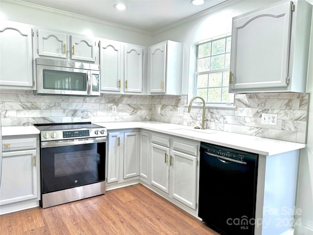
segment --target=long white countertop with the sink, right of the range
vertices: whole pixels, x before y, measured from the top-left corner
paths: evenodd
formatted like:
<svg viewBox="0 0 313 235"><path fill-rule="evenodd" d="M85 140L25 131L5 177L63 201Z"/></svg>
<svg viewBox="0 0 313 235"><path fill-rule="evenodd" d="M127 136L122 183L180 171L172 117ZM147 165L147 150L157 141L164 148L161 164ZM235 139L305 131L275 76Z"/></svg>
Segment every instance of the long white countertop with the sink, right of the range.
<svg viewBox="0 0 313 235"><path fill-rule="evenodd" d="M104 126L108 131L141 128L266 156L285 153L306 147L306 144L303 143L279 141L215 130L201 130L190 126L157 121L99 122L94 124Z"/></svg>

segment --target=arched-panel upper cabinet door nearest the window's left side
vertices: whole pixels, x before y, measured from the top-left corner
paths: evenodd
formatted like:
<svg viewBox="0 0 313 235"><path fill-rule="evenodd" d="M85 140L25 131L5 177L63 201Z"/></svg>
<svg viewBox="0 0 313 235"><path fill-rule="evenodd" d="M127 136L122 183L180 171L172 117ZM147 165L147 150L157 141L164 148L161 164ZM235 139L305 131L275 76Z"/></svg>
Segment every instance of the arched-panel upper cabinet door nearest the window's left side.
<svg viewBox="0 0 313 235"><path fill-rule="evenodd" d="M166 44L150 47L150 93L164 93L166 82Z"/></svg>

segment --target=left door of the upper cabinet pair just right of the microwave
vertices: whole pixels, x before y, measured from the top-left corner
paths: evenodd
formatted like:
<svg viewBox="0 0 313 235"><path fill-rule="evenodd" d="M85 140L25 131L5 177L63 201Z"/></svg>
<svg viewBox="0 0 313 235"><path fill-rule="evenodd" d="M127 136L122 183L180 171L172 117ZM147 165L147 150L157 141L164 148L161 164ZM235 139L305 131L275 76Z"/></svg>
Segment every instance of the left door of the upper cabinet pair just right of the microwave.
<svg viewBox="0 0 313 235"><path fill-rule="evenodd" d="M120 92L121 44L108 40L100 41L101 91Z"/></svg>

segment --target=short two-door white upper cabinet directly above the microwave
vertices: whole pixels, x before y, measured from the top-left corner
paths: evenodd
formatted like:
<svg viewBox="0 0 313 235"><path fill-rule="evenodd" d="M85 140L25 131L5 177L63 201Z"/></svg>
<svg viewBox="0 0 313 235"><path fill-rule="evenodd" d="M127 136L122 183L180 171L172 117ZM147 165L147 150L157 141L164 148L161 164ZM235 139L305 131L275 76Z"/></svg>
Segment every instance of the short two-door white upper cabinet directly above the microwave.
<svg viewBox="0 0 313 235"><path fill-rule="evenodd" d="M49 56L74 61L96 62L98 46L95 39L38 29L39 57ZM97 63L98 64L98 63Z"/></svg>

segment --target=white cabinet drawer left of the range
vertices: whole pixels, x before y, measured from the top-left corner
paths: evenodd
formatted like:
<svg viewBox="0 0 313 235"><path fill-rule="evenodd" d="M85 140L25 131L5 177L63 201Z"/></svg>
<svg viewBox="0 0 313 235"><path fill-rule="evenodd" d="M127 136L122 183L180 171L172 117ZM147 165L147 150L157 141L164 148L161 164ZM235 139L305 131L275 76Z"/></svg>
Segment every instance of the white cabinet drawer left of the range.
<svg viewBox="0 0 313 235"><path fill-rule="evenodd" d="M36 140L37 140L36 138L3 140L2 151L7 152L36 148L37 147Z"/></svg>

